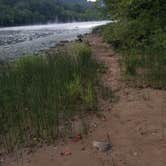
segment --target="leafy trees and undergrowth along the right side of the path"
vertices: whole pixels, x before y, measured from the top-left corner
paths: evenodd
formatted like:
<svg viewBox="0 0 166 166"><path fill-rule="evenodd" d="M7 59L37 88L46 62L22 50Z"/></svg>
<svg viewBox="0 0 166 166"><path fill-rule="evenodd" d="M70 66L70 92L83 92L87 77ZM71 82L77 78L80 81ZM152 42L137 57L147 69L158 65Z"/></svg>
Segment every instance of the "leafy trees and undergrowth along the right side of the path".
<svg viewBox="0 0 166 166"><path fill-rule="evenodd" d="M148 85L166 87L166 2L105 1L116 22L101 33L123 55L125 72Z"/></svg>

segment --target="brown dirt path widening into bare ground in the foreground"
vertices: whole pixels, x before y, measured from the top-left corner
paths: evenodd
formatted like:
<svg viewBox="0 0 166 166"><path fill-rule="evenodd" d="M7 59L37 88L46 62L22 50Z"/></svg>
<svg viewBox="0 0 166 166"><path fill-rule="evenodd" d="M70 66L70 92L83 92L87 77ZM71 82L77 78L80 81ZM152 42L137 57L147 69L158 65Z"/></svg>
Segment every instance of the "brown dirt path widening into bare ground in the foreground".
<svg viewBox="0 0 166 166"><path fill-rule="evenodd" d="M121 80L118 56L110 46L93 35L89 42L93 55L108 67L102 77L104 85L112 88L119 100L100 101L106 119L92 119L93 132L82 141L25 154L24 166L166 166L166 91L128 87ZM99 152L92 142L105 140L107 133L112 152ZM66 148L72 154L61 156ZM5 166L16 163L11 157Z"/></svg>

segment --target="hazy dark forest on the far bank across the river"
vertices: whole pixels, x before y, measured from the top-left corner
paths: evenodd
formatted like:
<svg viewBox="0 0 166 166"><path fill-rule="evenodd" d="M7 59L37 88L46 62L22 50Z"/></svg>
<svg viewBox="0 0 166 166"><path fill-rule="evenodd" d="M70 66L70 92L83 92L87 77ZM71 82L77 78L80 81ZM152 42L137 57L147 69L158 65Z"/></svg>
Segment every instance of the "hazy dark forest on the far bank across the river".
<svg viewBox="0 0 166 166"><path fill-rule="evenodd" d="M86 0L0 0L0 26L105 18L96 7Z"/></svg>

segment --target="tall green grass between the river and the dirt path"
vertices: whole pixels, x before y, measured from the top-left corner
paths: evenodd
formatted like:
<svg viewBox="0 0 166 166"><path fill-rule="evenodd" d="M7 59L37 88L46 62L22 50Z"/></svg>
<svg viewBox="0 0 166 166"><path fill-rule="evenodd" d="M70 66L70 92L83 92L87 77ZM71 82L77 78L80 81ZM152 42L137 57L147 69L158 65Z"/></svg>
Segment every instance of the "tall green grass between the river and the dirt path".
<svg viewBox="0 0 166 166"><path fill-rule="evenodd" d="M96 110L97 65L85 44L0 66L0 149L51 142L70 118Z"/></svg>

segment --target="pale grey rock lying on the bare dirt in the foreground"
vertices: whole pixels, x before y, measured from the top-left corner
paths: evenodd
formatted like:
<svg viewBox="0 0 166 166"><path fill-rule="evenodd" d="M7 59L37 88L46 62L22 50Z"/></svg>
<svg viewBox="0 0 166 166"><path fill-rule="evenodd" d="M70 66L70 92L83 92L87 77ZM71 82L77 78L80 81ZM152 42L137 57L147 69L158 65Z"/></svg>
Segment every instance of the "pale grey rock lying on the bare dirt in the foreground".
<svg viewBox="0 0 166 166"><path fill-rule="evenodd" d="M112 145L108 142L93 141L93 147L101 152L106 152L111 150Z"/></svg>

